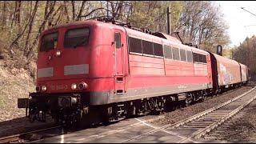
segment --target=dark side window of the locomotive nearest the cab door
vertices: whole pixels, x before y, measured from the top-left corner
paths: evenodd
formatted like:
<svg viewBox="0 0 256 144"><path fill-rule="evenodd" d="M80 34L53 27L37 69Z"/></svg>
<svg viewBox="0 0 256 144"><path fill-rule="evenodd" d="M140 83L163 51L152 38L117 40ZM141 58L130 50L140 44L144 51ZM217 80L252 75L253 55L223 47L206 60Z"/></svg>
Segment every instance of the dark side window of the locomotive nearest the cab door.
<svg viewBox="0 0 256 144"><path fill-rule="evenodd" d="M142 40L141 39L129 37L128 42L129 42L130 53L142 54L142 43L141 43Z"/></svg>

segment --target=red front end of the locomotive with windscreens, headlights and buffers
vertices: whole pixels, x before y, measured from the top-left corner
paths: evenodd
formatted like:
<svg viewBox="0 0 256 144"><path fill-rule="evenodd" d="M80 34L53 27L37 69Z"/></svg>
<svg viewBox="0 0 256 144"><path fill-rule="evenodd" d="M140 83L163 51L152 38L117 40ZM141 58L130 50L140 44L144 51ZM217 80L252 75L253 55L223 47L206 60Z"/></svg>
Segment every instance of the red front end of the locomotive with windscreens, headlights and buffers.
<svg viewBox="0 0 256 144"><path fill-rule="evenodd" d="M94 38L96 30L97 24L89 21L54 26L42 33L36 92L18 98L18 108L26 108L31 122L45 122L50 114L57 122L72 123L88 113L90 92L101 83L95 66L99 62L95 47L101 42Z"/></svg>

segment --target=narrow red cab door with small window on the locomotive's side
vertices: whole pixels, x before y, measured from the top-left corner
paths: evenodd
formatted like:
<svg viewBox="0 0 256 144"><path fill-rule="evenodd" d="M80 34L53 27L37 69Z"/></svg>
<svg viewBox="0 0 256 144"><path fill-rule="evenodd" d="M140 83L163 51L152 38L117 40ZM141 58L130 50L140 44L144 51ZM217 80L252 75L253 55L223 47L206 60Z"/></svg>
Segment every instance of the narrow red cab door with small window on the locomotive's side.
<svg viewBox="0 0 256 144"><path fill-rule="evenodd" d="M124 41L125 34L122 30L114 30L114 86L117 94L123 94L125 91L124 78Z"/></svg>

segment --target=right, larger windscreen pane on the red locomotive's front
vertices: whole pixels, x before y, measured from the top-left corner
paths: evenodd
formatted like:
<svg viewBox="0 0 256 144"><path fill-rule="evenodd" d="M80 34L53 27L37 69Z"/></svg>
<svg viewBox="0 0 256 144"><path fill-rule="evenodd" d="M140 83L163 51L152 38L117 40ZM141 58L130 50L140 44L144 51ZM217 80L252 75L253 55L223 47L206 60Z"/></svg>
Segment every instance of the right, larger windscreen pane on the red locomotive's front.
<svg viewBox="0 0 256 144"><path fill-rule="evenodd" d="M86 46L89 42L89 28L76 28L66 31L64 47Z"/></svg>

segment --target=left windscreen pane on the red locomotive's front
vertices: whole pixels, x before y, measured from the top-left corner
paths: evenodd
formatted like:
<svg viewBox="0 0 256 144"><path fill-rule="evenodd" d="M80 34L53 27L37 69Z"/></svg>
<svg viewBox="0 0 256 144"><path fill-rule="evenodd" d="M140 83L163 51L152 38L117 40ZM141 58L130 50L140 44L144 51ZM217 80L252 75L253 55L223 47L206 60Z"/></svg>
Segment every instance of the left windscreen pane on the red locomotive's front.
<svg viewBox="0 0 256 144"><path fill-rule="evenodd" d="M40 51L54 50L58 42L58 33L45 34L42 37Z"/></svg>

